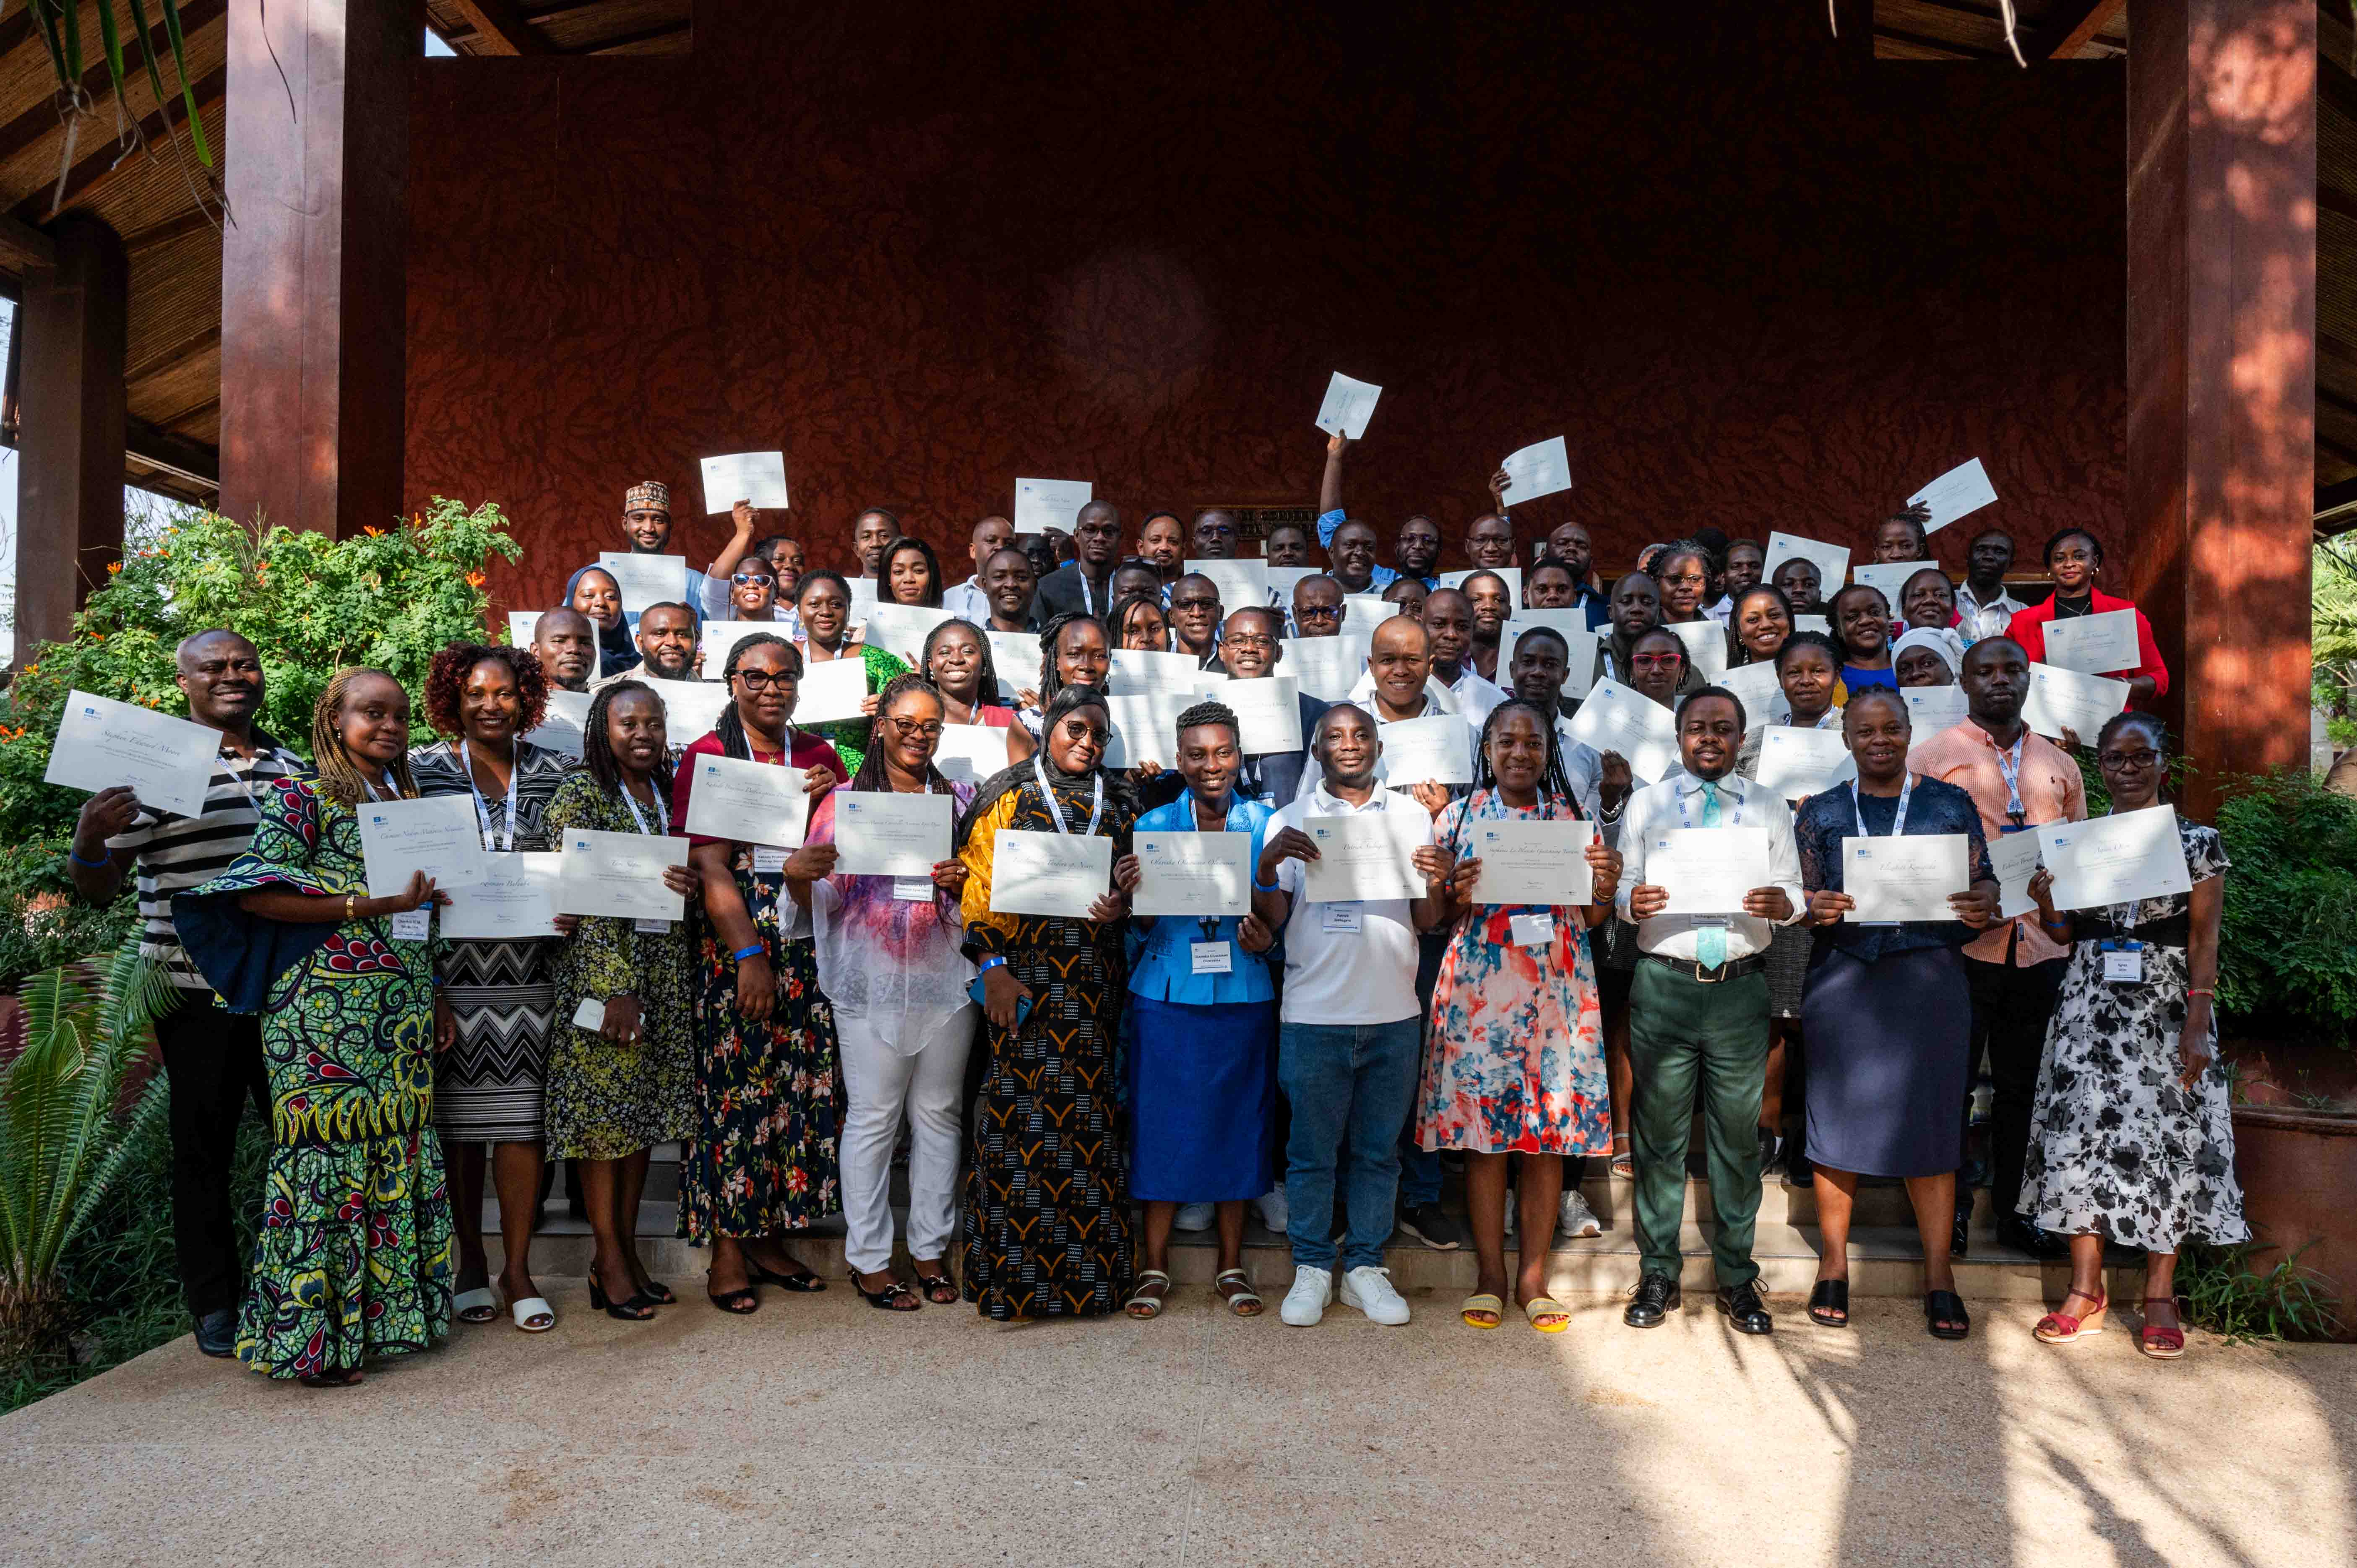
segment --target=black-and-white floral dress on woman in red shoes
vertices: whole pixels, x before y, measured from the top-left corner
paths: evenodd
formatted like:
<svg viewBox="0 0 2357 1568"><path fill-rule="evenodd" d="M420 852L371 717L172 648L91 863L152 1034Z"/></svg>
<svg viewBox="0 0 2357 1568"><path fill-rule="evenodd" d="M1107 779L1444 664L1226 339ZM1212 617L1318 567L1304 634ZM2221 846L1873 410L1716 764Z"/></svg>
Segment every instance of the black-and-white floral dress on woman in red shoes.
<svg viewBox="0 0 2357 1568"><path fill-rule="evenodd" d="M2225 872L2216 828L2178 823L2185 870L2206 882ZM2128 910L2081 910L2133 922L2145 948L2143 983L2102 979L2102 938L2079 936L2046 1026L2046 1059L2029 1115L2029 1158L2020 1210L2048 1231L2100 1231L2114 1243L2176 1252L2183 1240L2239 1243L2234 1115L2218 1063L2192 1094L2178 1087L2178 1033L2185 1026L2190 953L2187 894L2145 898ZM2216 1026L2211 1028L2216 1052Z"/></svg>

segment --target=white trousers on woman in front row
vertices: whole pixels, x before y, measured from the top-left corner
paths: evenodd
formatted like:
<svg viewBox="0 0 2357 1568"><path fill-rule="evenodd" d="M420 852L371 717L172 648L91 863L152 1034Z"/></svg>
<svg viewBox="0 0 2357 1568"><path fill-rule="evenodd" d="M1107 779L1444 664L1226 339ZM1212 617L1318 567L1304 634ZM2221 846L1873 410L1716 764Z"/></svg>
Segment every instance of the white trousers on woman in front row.
<svg viewBox="0 0 2357 1568"><path fill-rule="evenodd" d="M910 1122L907 1252L948 1257L957 1226L957 1132L966 1052L983 1009L950 1014L924 1049L903 1056L870 1019L837 1019L844 1049L844 1261L860 1273L891 1266L891 1151Z"/></svg>

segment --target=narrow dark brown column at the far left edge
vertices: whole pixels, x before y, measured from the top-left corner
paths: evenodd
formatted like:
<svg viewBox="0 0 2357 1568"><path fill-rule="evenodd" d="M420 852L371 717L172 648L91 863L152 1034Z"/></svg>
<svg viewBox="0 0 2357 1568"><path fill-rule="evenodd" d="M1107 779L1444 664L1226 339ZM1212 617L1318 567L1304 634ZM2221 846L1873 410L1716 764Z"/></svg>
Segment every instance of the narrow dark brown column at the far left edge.
<svg viewBox="0 0 2357 1568"><path fill-rule="evenodd" d="M54 264L28 266L16 330L16 660L61 641L123 554L123 323L130 264L94 217L49 229Z"/></svg>

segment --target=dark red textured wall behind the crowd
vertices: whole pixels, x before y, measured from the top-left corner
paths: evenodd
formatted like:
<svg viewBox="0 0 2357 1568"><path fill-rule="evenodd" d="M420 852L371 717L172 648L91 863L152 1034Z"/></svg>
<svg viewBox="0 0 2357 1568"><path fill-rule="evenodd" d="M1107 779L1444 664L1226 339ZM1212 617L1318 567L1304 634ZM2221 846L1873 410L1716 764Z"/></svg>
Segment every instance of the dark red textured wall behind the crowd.
<svg viewBox="0 0 2357 1568"><path fill-rule="evenodd" d="M1372 12L1372 17L1369 17ZM1874 64L1808 5L785 7L681 59L427 61L408 490L497 500L544 604L622 486L783 446L787 528L938 545L1016 474L1315 500L1452 556L1570 439L1619 564L1716 523L1864 547L1980 455L2025 540L2119 538L2124 75ZM1978 523L1980 519L1975 519ZM1961 564L1963 535L1942 535Z"/></svg>

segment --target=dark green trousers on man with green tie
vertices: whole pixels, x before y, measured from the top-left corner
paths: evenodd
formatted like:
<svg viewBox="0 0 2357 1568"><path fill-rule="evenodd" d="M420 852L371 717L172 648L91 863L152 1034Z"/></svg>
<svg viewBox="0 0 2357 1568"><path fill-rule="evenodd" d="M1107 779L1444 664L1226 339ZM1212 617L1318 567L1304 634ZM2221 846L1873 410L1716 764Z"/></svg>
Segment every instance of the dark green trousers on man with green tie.
<svg viewBox="0 0 2357 1568"><path fill-rule="evenodd" d="M1768 1080L1768 976L1697 981L1638 960L1629 988L1629 1153L1636 1155L1636 1240L1645 1273L1678 1278L1685 1144L1702 1108L1711 1172L1711 1264L1721 1285L1758 1278L1751 1228L1761 1214L1761 1087Z"/></svg>

